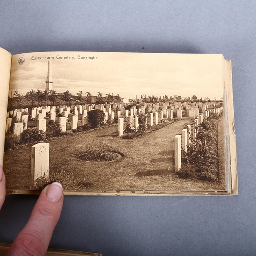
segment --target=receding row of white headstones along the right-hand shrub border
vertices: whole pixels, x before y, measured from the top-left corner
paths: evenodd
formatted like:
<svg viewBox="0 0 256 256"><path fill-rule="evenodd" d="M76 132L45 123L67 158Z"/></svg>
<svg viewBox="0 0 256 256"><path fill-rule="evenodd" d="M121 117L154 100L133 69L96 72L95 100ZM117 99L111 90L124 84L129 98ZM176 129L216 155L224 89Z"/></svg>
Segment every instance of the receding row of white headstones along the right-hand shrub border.
<svg viewBox="0 0 256 256"><path fill-rule="evenodd" d="M214 112L216 114L220 114L223 111L223 107L219 107L214 110L210 110L209 112ZM194 127L193 131L191 130L191 125L187 125L187 129L182 130L181 135L175 135L174 137L174 170L178 172L181 168L181 148L187 152L187 145L191 143L191 139L196 140L197 133L200 129L200 124L204 122L205 119L209 117L209 112L203 112L199 115L199 117L194 119ZM182 145L181 145L182 143Z"/></svg>

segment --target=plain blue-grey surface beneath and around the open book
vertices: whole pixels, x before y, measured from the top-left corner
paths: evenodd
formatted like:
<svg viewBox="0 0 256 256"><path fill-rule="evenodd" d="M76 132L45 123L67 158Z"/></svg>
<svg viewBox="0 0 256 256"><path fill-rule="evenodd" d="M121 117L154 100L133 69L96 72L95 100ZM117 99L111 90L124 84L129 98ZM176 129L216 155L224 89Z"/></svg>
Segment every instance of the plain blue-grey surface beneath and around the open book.
<svg viewBox="0 0 256 256"><path fill-rule="evenodd" d="M232 61L239 195L67 196L50 247L106 255L255 255L256 2L0 1L0 47L36 51L222 53ZM37 196L7 196L12 243Z"/></svg>

